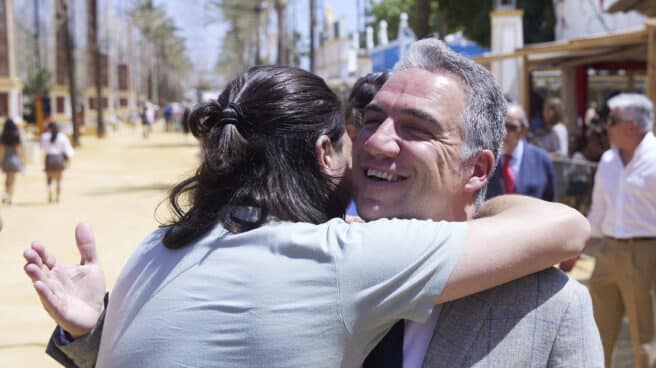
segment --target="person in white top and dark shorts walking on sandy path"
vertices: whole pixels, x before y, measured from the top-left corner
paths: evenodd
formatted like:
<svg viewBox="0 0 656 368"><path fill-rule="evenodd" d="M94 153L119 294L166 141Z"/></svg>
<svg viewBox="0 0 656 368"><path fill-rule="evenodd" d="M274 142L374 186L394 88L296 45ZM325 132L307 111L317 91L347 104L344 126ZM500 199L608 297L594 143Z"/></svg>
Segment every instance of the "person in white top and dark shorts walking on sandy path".
<svg viewBox="0 0 656 368"><path fill-rule="evenodd" d="M61 181L66 161L73 157L74 150L66 134L59 131L55 122L48 124L48 131L41 136L41 149L46 153L45 172L48 189L48 203L59 202L61 196ZM52 182L55 181L56 193L53 198Z"/></svg>

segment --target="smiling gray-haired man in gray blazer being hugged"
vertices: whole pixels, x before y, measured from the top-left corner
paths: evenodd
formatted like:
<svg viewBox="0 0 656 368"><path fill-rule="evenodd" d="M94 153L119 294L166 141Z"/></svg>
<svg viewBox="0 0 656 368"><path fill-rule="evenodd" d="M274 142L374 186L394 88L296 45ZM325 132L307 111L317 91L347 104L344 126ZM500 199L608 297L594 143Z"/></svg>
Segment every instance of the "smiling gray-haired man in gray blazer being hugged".
<svg viewBox="0 0 656 368"><path fill-rule="evenodd" d="M471 219L485 197L504 125L503 96L488 71L437 40L414 43L368 105L354 143L359 214ZM401 321L364 367L603 364L588 291L550 268L438 305L427 321Z"/></svg>

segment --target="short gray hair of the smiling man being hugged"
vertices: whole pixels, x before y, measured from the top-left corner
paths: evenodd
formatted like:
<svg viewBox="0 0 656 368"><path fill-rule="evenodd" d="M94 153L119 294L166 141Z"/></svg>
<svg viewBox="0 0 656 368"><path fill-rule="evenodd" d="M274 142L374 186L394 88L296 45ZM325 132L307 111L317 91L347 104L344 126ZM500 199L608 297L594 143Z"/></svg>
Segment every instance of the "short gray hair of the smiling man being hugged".
<svg viewBox="0 0 656 368"><path fill-rule="evenodd" d="M506 100L492 74L435 38L414 42L394 66L395 71L411 68L446 71L462 80L467 96L460 121L462 163L464 165L483 150L490 150L496 168L506 134ZM485 199L486 191L487 186L476 194L474 201L477 206Z"/></svg>

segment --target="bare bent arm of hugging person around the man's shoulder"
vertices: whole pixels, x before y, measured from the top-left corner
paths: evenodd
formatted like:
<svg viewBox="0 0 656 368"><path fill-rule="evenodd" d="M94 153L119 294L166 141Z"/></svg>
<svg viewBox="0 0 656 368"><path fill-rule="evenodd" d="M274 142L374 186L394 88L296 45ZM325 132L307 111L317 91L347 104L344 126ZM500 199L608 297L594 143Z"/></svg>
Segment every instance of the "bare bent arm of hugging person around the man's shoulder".
<svg viewBox="0 0 656 368"><path fill-rule="evenodd" d="M463 253L438 303L504 284L577 256L590 234L575 209L518 195L492 198L469 222Z"/></svg>

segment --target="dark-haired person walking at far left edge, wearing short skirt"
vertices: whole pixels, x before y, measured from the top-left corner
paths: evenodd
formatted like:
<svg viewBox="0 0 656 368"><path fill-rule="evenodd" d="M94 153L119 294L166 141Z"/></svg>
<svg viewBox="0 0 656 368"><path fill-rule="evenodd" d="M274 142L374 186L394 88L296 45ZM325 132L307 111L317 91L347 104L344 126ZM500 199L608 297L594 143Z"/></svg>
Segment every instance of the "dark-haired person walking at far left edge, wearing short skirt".
<svg viewBox="0 0 656 368"><path fill-rule="evenodd" d="M23 169L23 162L25 162L25 150L20 131L11 119L7 119L2 128L0 157L2 157L2 172L5 173L5 191L2 195L2 203L11 206L14 200L16 173Z"/></svg>

